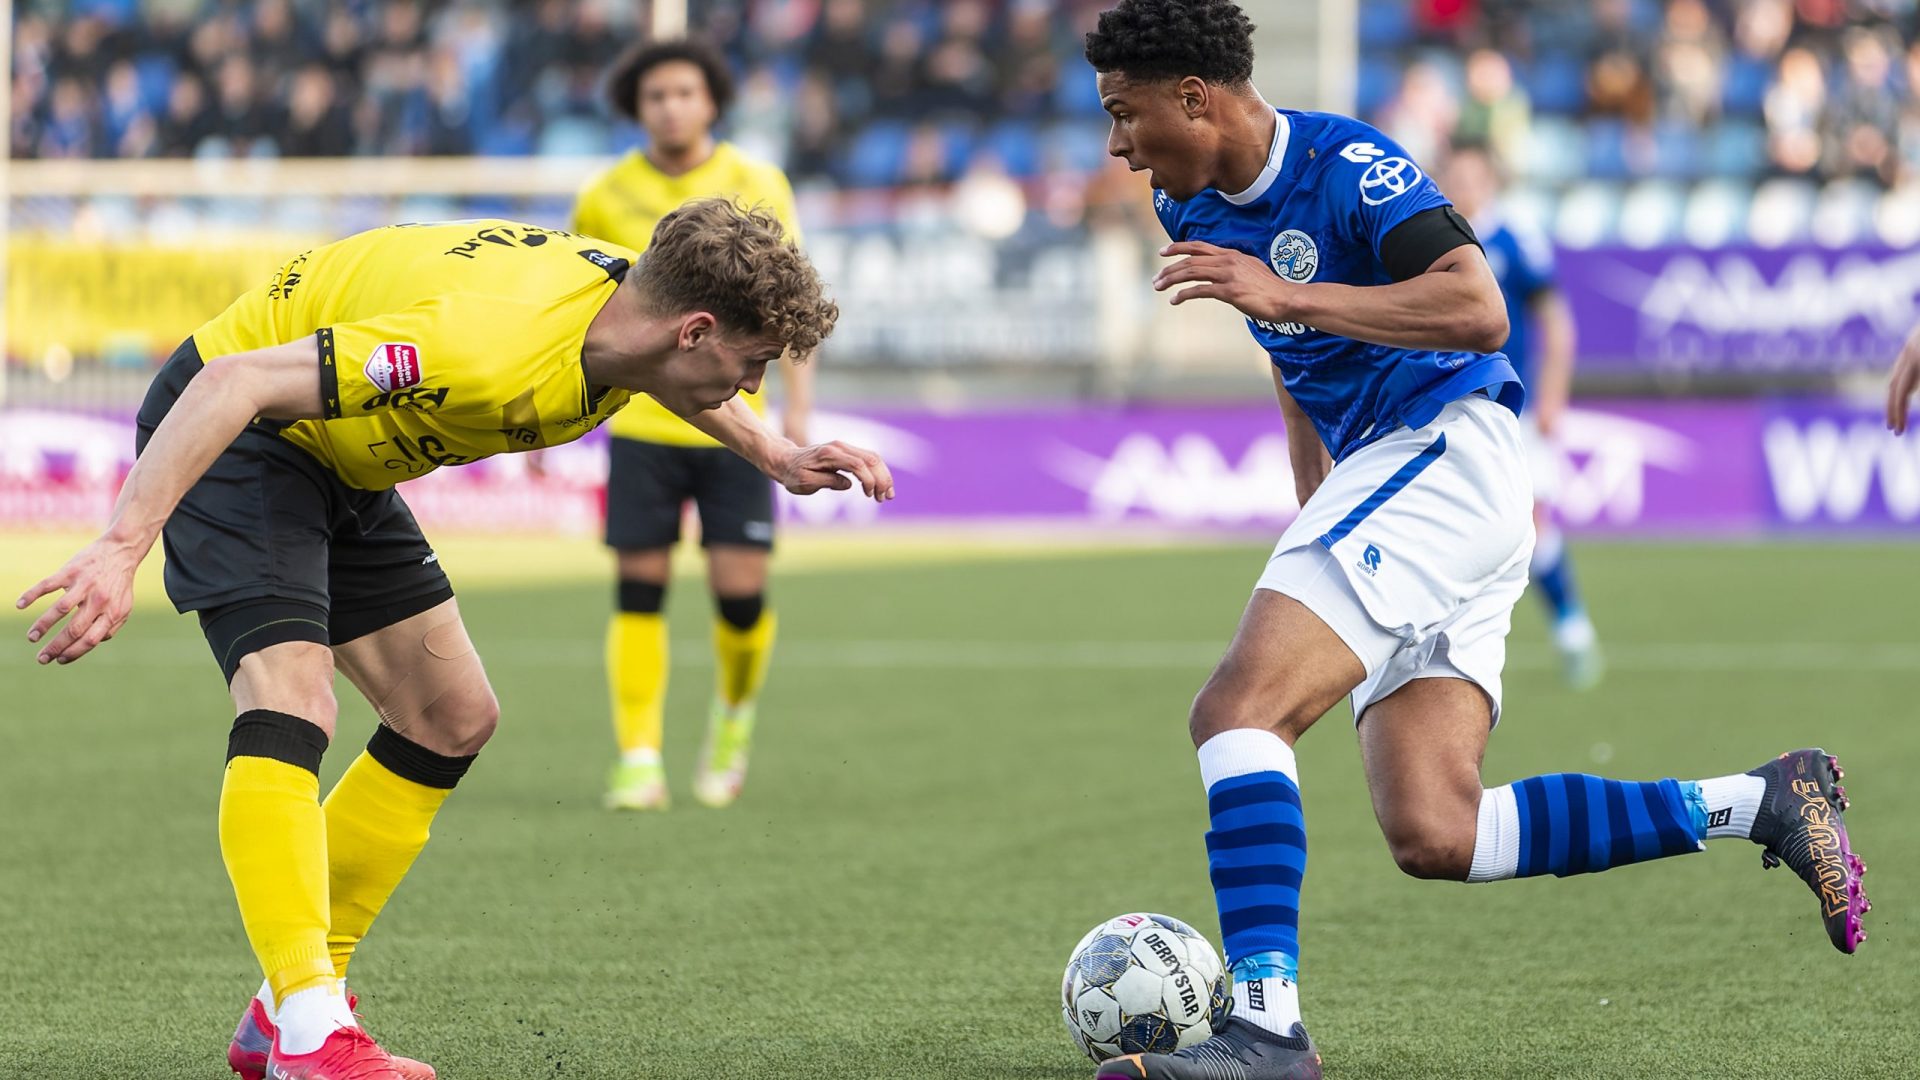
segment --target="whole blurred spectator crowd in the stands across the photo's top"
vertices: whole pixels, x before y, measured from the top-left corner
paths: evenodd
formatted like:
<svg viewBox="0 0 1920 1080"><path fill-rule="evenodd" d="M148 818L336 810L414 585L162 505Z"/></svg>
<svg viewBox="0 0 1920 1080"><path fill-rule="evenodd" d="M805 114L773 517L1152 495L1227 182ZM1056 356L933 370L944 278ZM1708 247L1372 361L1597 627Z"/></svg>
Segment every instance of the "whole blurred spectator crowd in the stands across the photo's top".
<svg viewBox="0 0 1920 1080"><path fill-rule="evenodd" d="M735 138L797 181L1087 169L1079 42L1102 0L695 0L739 65ZM1920 175L1916 0L1361 0L1359 111L1523 173ZM27 0L23 158L601 154L632 0Z"/></svg>

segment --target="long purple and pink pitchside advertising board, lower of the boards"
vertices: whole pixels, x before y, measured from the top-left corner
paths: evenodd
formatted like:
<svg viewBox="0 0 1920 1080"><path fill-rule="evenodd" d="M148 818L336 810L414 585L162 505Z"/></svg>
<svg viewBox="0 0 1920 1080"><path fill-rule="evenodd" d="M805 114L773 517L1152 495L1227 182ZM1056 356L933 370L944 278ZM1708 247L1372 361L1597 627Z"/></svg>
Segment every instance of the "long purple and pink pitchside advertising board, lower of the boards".
<svg viewBox="0 0 1920 1080"><path fill-rule="evenodd" d="M1292 465L1271 404L1046 407L970 413L822 411L816 438L881 452L900 498L781 498L795 525L1023 525L1275 536ZM125 417L0 411L0 527L86 528L132 463ZM434 528L593 532L605 434L553 448L534 475L490 457L407 482ZM1920 536L1920 436L1872 405L1603 402L1567 413L1548 469L1561 519L1597 534Z"/></svg>

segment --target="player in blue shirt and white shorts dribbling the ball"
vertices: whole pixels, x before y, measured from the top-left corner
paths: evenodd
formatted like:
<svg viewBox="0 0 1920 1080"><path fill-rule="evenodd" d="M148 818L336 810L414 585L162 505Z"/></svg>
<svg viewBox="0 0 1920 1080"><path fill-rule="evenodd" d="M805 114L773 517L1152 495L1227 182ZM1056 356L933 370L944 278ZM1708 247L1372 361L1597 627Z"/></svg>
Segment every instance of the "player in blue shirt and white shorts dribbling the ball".
<svg viewBox="0 0 1920 1080"><path fill-rule="evenodd" d="M1175 1053L1091 1043L1102 1080L1309 1080L1300 1022L1306 819L1294 742L1354 705L1373 809L1421 878L1584 874L1751 840L1862 940L1860 863L1820 749L1697 782L1532 776L1484 788L1534 548L1524 390L1467 221L1388 136L1275 110L1227 0L1121 0L1087 35L1108 152L1148 171L1173 304L1219 300L1273 359L1300 517L1194 698L1208 865L1235 1009Z"/></svg>

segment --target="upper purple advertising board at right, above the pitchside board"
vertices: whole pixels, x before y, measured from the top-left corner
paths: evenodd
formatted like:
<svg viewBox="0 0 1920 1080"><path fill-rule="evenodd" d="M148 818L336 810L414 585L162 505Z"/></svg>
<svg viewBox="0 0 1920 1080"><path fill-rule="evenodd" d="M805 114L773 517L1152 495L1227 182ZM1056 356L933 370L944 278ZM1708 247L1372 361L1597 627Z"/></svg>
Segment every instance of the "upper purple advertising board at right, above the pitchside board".
<svg viewBox="0 0 1920 1080"><path fill-rule="evenodd" d="M1555 269L1588 371L1880 371L1920 321L1920 252L1592 248Z"/></svg>

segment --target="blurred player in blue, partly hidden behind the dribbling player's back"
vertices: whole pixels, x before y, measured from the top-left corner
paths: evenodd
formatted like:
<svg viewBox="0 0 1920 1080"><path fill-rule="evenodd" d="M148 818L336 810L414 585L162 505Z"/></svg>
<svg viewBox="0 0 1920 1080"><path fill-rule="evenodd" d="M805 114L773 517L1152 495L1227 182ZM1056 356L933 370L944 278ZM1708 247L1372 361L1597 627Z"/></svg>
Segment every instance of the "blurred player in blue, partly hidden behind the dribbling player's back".
<svg viewBox="0 0 1920 1080"><path fill-rule="evenodd" d="M1500 161L1480 142L1459 142L1448 158L1440 190L1467 215L1480 236L1486 265L1507 300L1507 340L1500 352L1526 386L1521 434L1534 477L1534 559L1528 575L1553 619L1567 682L1590 690L1601 676L1599 640L1572 577L1567 536L1553 521L1559 492L1559 450L1553 444L1572 388L1572 309L1553 281L1553 246L1528 223L1501 213ZM1528 419L1532 423L1528 423Z"/></svg>

